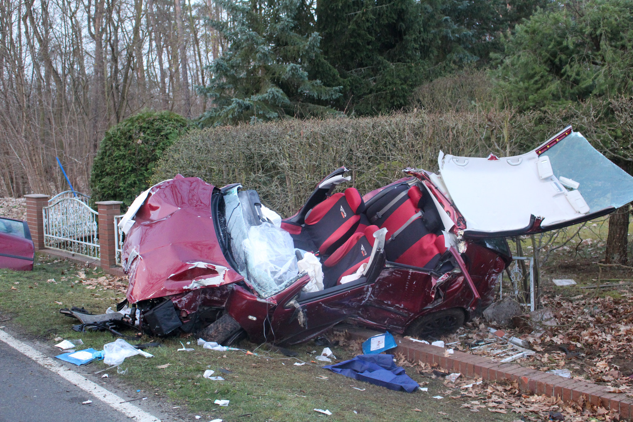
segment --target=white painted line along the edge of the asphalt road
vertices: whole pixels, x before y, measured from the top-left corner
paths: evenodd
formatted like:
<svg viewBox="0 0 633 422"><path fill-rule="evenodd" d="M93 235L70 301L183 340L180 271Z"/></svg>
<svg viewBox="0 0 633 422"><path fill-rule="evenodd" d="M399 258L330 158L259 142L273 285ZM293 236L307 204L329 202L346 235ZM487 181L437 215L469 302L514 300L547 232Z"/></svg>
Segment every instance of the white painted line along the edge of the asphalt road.
<svg viewBox="0 0 633 422"><path fill-rule="evenodd" d="M87 380L86 378L84 378L84 376L79 375L75 371L66 368L50 357L36 351L33 347L30 347L20 340L11 337L11 335L8 335L3 330L0 330L0 340L13 347L13 349L22 353L23 355L30 357L35 362L44 366L44 368L51 369L51 371L53 371L57 375L60 375L62 378L65 378L74 385L77 385L77 387L81 388L85 392L94 395L94 397L101 400L105 404L108 404L114 409L125 414L125 416L128 416L129 418L134 418L136 421L139 422L160 422L160 419L152 416L146 411L142 411L138 407L134 406L134 404L122 403L122 401L124 400L118 395L109 392L105 388L97 385L90 380Z"/></svg>

